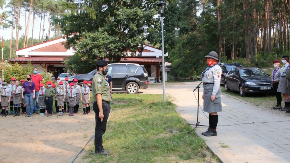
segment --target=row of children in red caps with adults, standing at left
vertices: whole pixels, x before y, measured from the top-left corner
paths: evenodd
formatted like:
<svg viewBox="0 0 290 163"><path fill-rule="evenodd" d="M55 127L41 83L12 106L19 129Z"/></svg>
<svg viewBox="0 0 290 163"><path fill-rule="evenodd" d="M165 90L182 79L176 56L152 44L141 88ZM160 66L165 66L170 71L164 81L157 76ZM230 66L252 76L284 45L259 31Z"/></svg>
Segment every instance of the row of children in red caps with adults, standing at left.
<svg viewBox="0 0 290 163"><path fill-rule="evenodd" d="M46 114L47 117L50 117L52 115L53 98L56 102L57 116L63 116L63 113L69 113L69 116L74 116L74 113L78 113L79 100L82 101L83 115L90 113L89 102L92 81L88 82L85 80L83 82L84 86L81 87L78 85L77 79L73 80L73 83L68 83L69 79L65 78L65 83L60 81L58 87L51 81L48 81L47 86L39 82L39 88L36 89L32 76L33 74L28 74L26 76L27 80L21 79L20 82L12 77L10 84L3 82L0 77L0 108L2 117L8 117L8 114L14 117L20 116L20 108L22 108L21 114L26 114L25 117L32 117L32 113L38 113L38 109L37 111L34 110L34 99L39 107L40 116ZM40 81L42 81L42 78ZM9 106L11 109L10 113L8 113Z"/></svg>

